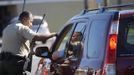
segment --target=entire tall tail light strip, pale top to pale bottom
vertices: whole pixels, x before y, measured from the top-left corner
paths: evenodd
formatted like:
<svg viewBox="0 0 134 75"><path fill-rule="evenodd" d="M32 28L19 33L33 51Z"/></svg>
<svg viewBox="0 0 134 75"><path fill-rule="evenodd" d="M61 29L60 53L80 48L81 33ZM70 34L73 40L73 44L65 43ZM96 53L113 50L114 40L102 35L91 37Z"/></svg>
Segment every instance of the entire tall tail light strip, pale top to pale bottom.
<svg viewBox="0 0 134 75"><path fill-rule="evenodd" d="M115 62L117 52L118 26L119 26L118 20L112 22L102 75L116 75Z"/></svg>

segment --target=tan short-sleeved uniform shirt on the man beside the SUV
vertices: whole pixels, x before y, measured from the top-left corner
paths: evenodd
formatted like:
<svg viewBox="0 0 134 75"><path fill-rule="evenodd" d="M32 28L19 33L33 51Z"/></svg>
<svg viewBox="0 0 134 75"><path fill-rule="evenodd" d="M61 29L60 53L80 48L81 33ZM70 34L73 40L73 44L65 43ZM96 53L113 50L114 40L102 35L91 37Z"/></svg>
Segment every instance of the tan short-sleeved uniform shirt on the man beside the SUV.
<svg viewBox="0 0 134 75"><path fill-rule="evenodd" d="M30 52L30 41L32 41L35 35L37 35L35 32L21 23L8 25L3 31L2 52L28 56Z"/></svg>

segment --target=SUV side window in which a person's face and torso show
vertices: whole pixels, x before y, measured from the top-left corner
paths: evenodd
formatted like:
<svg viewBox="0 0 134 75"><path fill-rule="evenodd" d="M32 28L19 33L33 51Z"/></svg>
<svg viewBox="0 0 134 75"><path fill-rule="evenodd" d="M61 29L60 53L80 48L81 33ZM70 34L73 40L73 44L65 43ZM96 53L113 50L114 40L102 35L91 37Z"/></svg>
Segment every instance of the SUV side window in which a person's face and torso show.
<svg viewBox="0 0 134 75"><path fill-rule="evenodd" d="M67 50L67 57L74 57L80 59L82 55L82 49L83 49L83 34L86 29L86 23L85 22L79 22L76 23L76 27L74 29L74 32L72 33L71 39L70 39L70 45Z"/></svg>

